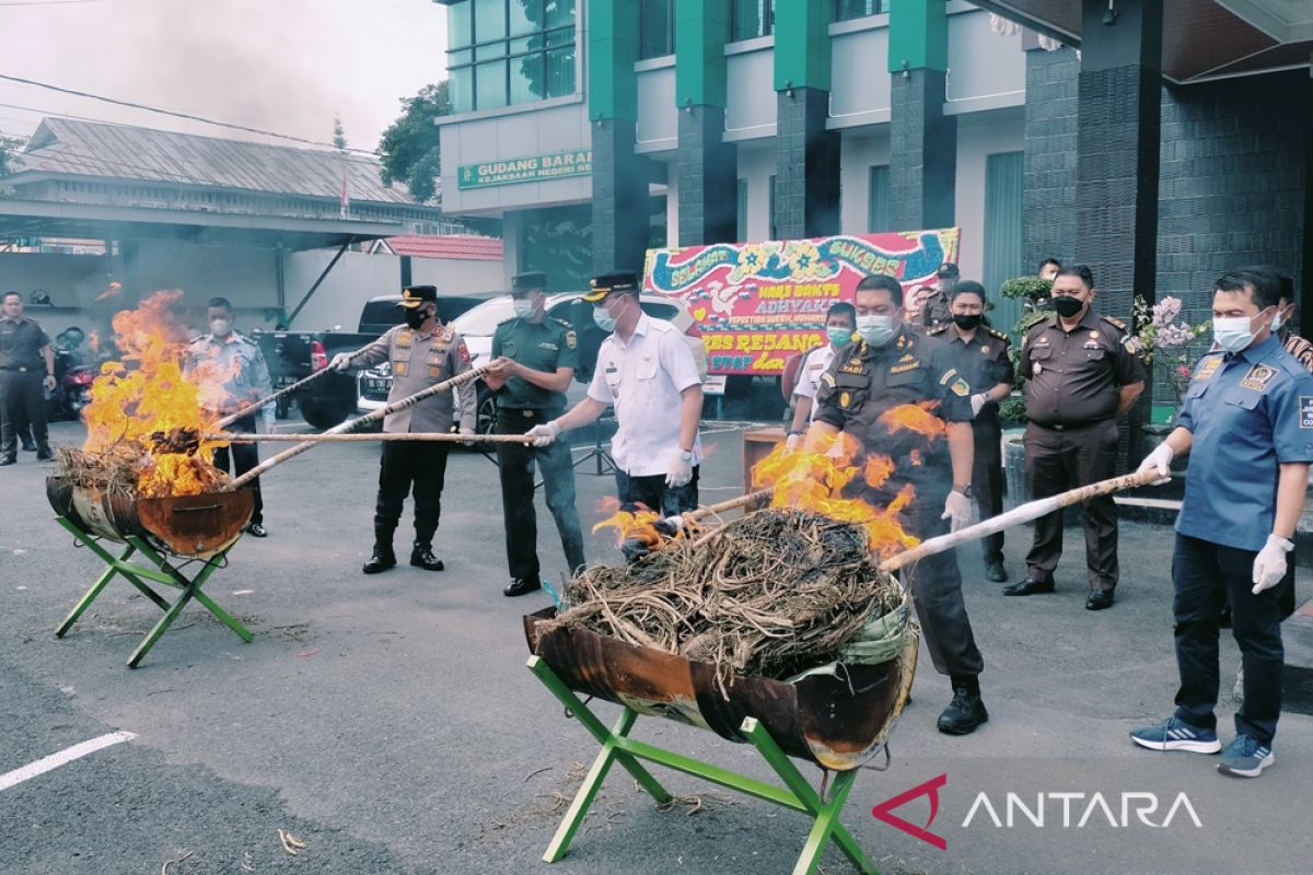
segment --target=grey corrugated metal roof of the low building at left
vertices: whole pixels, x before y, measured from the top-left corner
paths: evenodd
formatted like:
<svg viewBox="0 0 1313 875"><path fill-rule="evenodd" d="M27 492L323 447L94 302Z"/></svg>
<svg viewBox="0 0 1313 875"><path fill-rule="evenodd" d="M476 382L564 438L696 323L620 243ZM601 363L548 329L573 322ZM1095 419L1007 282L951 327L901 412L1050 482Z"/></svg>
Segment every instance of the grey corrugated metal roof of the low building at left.
<svg viewBox="0 0 1313 875"><path fill-rule="evenodd" d="M218 186L269 194L414 203L410 190L385 186L368 155L267 146L247 140L158 131L131 125L46 118L28 142L21 171L143 182Z"/></svg>

